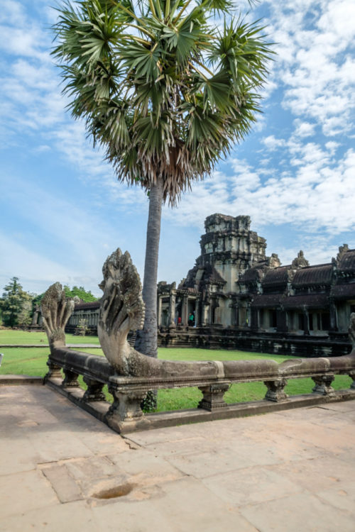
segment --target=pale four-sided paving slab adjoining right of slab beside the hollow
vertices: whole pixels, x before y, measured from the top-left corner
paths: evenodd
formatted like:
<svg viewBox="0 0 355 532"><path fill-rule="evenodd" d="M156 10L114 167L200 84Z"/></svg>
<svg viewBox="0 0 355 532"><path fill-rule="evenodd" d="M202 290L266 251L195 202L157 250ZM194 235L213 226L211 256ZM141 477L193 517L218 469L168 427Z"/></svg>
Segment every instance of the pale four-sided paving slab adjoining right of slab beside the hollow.
<svg viewBox="0 0 355 532"><path fill-rule="evenodd" d="M223 501L244 506L280 499L305 490L278 470L265 467L247 467L202 479L204 486Z"/></svg>

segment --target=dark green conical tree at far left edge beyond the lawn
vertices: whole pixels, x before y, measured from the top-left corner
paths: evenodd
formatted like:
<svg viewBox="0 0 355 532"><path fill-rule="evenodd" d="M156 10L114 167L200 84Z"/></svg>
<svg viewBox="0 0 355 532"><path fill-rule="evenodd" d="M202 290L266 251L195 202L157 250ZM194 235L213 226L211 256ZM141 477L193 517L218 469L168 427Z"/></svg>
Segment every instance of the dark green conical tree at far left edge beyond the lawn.
<svg viewBox="0 0 355 532"><path fill-rule="evenodd" d="M4 287L0 299L1 318L5 326L29 325L31 323L33 295L25 292L18 282L18 277L12 277Z"/></svg>

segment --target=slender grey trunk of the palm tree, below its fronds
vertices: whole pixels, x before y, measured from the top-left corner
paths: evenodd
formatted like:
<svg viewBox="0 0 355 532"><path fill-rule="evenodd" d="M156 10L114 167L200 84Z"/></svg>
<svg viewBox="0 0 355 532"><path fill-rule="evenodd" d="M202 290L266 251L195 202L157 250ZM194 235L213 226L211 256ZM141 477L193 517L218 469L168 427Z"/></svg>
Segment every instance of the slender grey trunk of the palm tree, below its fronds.
<svg viewBox="0 0 355 532"><path fill-rule="evenodd" d="M143 355L158 357L157 283L163 179L158 179L149 192L146 261L144 264L143 301L146 304L143 331L137 331L135 348Z"/></svg>

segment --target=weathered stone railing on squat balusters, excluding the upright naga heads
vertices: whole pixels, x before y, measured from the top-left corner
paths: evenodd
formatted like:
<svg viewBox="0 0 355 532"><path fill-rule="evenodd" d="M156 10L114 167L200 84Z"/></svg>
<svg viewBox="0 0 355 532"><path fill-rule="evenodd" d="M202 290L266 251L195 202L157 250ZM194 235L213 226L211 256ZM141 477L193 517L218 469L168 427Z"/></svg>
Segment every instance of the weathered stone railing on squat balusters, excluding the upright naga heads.
<svg viewBox="0 0 355 532"><path fill-rule="evenodd" d="M59 387L67 397L120 433L355 399L355 351L343 357L291 359L281 364L274 360L204 362L200 375L195 372L194 375L131 377L117 375L104 357L58 348L50 354L48 367L48 384ZM87 384L85 392L79 388L79 375ZM350 389L334 391L332 382L335 375L349 375L353 379ZM315 383L310 389L312 394L288 397L285 394L288 379L304 377L311 377ZM263 382L266 385L265 399L246 404L226 404L224 394L231 384L242 382ZM113 396L112 404L105 401L104 384ZM202 399L197 409L143 414L141 401L148 390L183 387L201 390Z"/></svg>

